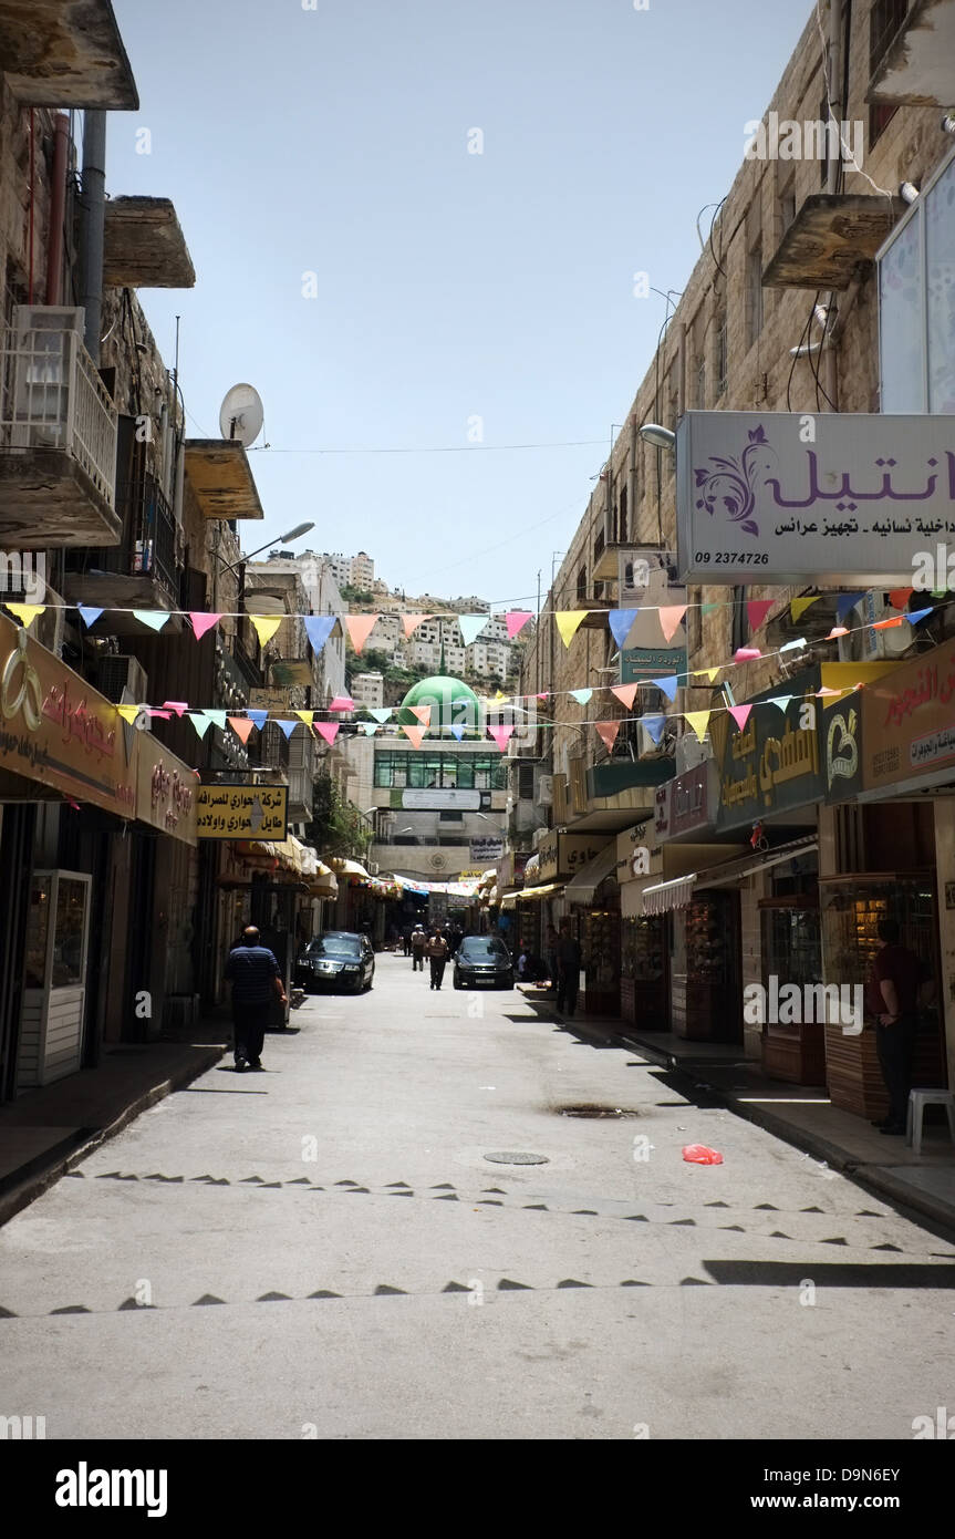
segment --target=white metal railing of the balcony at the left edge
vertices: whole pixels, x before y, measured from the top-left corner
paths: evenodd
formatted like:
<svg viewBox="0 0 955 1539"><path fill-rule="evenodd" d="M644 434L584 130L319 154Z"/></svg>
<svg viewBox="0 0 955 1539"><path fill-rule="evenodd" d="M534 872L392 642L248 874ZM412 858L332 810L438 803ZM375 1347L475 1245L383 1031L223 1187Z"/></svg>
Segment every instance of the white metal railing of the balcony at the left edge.
<svg viewBox="0 0 955 1539"><path fill-rule="evenodd" d="M2 332L0 452L37 449L69 456L115 508L117 409L83 339L68 326Z"/></svg>

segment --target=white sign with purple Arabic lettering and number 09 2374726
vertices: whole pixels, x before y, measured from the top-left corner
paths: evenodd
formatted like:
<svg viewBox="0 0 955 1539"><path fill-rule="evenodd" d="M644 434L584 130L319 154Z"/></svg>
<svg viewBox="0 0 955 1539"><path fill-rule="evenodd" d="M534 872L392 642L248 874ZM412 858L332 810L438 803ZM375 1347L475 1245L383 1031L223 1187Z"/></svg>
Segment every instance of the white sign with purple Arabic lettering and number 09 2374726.
<svg viewBox="0 0 955 1539"><path fill-rule="evenodd" d="M684 582L910 582L955 537L952 419L687 411L677 531Z"/></svg>

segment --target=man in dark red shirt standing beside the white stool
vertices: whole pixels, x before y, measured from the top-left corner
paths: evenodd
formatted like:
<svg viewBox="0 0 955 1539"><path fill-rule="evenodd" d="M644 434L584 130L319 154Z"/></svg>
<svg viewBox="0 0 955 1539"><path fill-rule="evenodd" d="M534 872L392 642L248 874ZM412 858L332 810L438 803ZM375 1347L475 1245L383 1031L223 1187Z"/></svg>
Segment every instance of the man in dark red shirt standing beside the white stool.
<svg viewBox="0 0 955 1539"><path fill-rule="evenodd" d="M889 1116L877 1123L881 1133L906 1131L912 1060L915 1057L917 1005L921 963L913 951L898 943L893 919L880 919L877 951L866 979L866 1005L875 1016L875 1047L889 1091Z"/></svg>

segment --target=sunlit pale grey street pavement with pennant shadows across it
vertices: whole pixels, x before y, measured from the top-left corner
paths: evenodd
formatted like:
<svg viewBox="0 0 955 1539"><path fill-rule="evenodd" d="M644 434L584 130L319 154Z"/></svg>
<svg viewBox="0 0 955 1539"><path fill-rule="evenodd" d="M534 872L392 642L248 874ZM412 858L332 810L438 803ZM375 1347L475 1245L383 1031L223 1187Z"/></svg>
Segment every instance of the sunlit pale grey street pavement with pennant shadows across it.
<svg viewBox="0 0 955 1539"><path fill-rule="evenodd" d="M392 956L292 1022L0 1233L48 1437L898 1441L946 1404L953 1247L624 1047Z"/></svg>

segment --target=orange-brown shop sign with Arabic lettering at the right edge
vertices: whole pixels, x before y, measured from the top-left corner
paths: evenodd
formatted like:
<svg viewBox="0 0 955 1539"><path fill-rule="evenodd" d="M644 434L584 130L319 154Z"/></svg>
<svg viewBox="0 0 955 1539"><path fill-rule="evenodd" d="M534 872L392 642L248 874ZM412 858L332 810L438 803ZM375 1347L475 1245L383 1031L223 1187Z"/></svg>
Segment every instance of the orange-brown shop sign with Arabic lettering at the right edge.
<svg viewBox="0 0 955 1539"><path fill-rule="evenodd" d="M863 689L863 790L955 780L955 643Z"/></svg>

